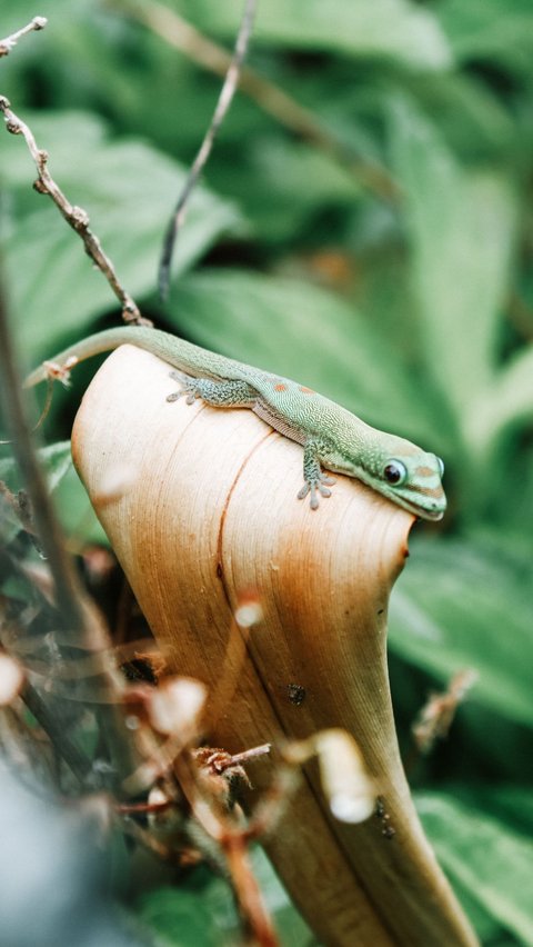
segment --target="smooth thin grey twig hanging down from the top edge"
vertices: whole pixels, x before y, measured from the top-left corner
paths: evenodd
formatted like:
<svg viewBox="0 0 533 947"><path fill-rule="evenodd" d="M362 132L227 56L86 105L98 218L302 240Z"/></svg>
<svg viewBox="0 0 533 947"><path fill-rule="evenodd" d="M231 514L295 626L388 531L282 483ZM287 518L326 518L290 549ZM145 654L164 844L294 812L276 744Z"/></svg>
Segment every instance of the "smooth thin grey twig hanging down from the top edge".
<svg viewBox="0 0 533 947"><path fill-rule="evenodd" d="M239 74L241 71L241 67L247 54L248 44L250 42L250 37L252 33L253 19L255 16L255 6L257 0L247 0L247 4L244 7L244 12L242 14L242 20L239 27L239 32L237 34L235 48L233 56L230 60L228 71L225 73L225 79L220 91L219 100L217 102L217 107L213 112L213 118L211 119L211 124L205 132L204 139L200 146L197 157L194 158L191 171L185 181L184 188L178 199L178 203L175 205L174 213L170 220L164 241L163 241L163 250L161 253L161 261L159 265L159 292L162 299L167 299L169 293L169 283L170 283L170 268L172 263L172 253L175 246L175 239L178 237L178 231L180 227L183 225L187 205L189 198L194 190L198 178L204 167L205 162L209 159L211 153L211 149L214 143L214 139L217 138L220 126L222 124L228 109L232 102L233 96L237 90L237 86L239 82Z"/></svg>

